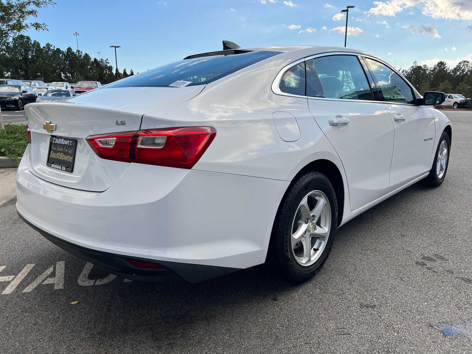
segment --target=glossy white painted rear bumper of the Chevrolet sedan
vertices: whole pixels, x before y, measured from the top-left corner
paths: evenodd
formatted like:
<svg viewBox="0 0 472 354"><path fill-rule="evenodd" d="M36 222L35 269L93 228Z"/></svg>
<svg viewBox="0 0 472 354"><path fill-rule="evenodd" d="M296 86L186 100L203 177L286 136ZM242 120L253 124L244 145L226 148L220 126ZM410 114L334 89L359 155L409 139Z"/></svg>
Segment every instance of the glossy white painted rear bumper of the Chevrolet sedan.
<svg viewBox="0 0 472 354"><path fill-rule="evenodd" d="M131 163L106 191L87 192L35 176L26 160L17 169L17 211L51 241L55 237L90 250L82 253L224 267L226 272L265 261L278 204L289 185L268 178ZM97 262L95 256L74 252ZM125 278L132 274L104 264L97 265Z"/></svg>

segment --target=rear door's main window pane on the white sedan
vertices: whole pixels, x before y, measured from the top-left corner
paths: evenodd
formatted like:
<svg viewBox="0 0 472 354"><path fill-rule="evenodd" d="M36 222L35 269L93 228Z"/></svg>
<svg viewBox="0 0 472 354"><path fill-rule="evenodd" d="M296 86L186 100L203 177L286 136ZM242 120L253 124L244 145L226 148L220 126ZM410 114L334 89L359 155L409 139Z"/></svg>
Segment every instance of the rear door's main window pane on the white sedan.
<svg viewBox="0 0 472 354"><path fill-rule="evenodd" d="M332 55L313 59L326 98L373 100L361 63L352 55Z"/></svg>

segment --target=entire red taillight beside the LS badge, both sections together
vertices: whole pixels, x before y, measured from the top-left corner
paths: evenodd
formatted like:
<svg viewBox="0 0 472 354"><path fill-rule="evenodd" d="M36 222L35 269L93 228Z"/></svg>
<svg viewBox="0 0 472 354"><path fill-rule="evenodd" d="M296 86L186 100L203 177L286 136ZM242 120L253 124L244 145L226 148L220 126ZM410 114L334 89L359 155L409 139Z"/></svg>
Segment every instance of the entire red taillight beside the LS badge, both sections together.
<svg viewBox="0 0 472 354"><path fill-rule="evenodd" d="M87 138L102 159L191 169L216 135L211 126L150 129Z"/></svg>

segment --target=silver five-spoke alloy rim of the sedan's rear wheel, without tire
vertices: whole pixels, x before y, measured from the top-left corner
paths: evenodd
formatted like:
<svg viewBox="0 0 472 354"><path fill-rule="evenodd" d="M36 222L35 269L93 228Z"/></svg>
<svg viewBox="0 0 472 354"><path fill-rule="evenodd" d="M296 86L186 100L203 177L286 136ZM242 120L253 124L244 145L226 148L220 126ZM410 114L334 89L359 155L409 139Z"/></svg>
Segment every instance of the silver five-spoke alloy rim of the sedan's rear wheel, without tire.
<svg viewBox="0 0 472 354"><path fill-rule="evenodd" d="M316 262L326 247L331 228L331 206L321 191L305 195L295 212L290 244L295 261L302 266Z"/></svg>

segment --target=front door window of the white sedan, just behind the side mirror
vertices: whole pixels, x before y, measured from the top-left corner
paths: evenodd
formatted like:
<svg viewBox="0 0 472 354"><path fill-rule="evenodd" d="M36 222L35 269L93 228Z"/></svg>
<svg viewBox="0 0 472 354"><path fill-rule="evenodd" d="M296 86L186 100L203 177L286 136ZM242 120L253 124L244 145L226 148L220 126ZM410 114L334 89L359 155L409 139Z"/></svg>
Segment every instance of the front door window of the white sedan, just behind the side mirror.
<svg viewBox="0 0 472 354"><path fill-rule="evenodd" d="M376 60L366 58L370 70L378 82L384 101L414 104L413 91L410 86L389 67Z"/></svg>

